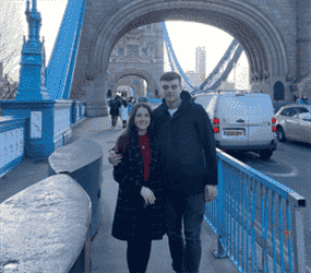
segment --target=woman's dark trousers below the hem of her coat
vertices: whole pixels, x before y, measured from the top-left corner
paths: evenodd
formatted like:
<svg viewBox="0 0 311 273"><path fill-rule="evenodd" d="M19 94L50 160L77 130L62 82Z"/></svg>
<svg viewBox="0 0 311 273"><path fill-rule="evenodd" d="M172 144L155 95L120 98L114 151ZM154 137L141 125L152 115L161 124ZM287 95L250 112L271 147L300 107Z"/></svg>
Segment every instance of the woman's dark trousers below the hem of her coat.
<svg viewBox="0 0 311 273"><path fill-rule="evenodd" d="M130 273L145 273L152 250L152 240L142 237L128 240L127 260Z"/></svg>

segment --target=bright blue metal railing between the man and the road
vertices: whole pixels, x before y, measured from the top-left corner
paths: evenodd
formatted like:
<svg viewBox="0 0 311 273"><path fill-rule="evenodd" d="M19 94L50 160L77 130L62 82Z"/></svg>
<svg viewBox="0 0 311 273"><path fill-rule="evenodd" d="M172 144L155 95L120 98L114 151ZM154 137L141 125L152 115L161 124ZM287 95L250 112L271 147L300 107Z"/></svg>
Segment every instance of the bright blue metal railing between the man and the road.
<svg viewBox="0 0 311 273"><path fill-rule="evenodd" d="M217 158L218 197L204 216L218 237L214 256L228 257L240 272L306 273L306 199L218 149Z"/></svg>

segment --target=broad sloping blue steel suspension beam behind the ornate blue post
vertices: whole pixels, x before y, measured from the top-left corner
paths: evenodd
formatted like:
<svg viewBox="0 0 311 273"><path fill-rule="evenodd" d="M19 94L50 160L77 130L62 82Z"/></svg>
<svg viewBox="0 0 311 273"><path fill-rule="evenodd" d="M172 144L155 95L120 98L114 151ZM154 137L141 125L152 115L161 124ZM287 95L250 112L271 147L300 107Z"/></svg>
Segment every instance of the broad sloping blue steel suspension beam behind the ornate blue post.
<svg viewBox="0 0 311 273"><path fill-rule="evenodd" d="M51 99L69 98L84 10L85 0L68 1L46 69L46 87Z"/></svg>

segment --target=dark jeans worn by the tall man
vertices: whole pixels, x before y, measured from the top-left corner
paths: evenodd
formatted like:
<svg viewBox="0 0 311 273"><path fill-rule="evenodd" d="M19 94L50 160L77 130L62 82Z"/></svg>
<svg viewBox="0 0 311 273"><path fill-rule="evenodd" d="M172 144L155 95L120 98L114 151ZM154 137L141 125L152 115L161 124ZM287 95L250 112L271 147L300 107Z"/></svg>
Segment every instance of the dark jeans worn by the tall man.
<svg viewBox="0 0 311 273"><path fill-rule="evenodd" d="M205 210L205 193L183 197L177 192L166 202L165 215L168 228L168 242L176 272L199 273L201 261L201 225ZM181 234L183 218L184 237Z"/></svg>

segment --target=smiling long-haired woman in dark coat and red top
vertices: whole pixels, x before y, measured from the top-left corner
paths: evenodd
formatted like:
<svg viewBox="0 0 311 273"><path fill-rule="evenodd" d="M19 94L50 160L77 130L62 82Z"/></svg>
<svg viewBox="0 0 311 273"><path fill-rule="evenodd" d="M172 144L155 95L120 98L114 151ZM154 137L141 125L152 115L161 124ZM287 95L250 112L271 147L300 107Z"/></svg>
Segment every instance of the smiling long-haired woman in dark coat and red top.
<svg viewBox="0 0 311 273"><path fill-rule="evenodd" d="M128 241L130 273L146 272L152 240L166 234L164 186L158 167L158 149L151 134L151 107L136 104L129 124L118 139L116 153L122 162L113 167L119 182L111 235Z"/></svg>

